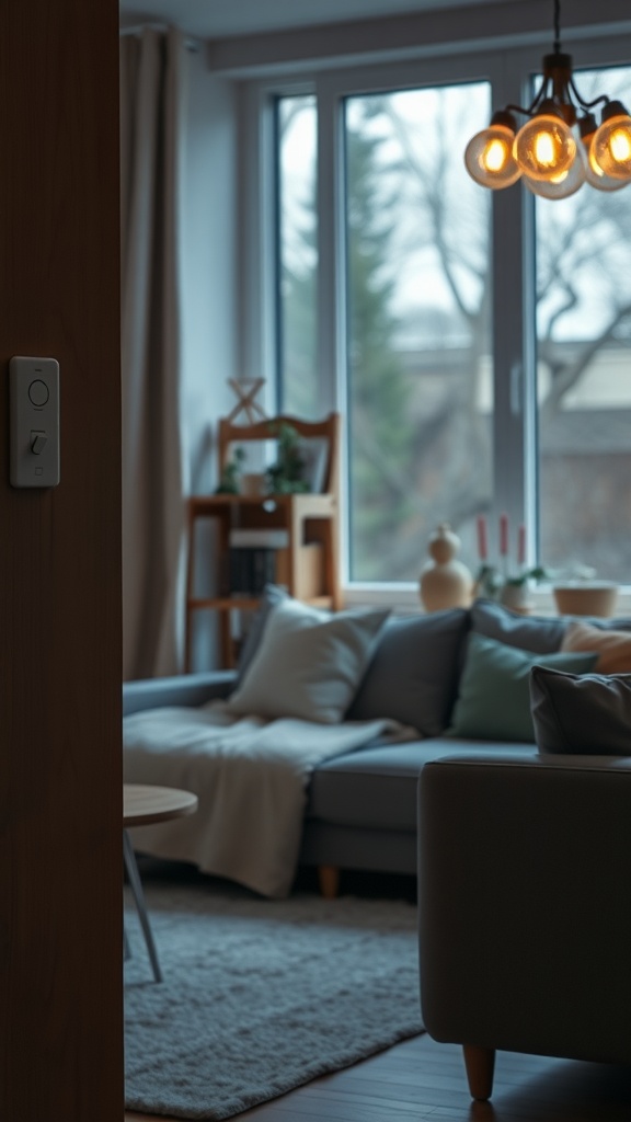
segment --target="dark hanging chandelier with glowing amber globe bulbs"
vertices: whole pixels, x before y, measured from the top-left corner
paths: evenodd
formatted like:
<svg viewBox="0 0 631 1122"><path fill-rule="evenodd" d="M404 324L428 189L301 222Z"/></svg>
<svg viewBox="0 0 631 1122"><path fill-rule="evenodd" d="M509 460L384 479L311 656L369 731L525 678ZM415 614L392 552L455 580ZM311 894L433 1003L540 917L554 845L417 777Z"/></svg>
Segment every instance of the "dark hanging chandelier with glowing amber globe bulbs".
<svg viewBox="0 0 631 1122"><path fill-rule="evenodd" d="M584 183L619 191L631 183L631 117L606 94L584 101L571 76L571 55L560 49L560 0L555 0L555 43L543 56L541 88L528 109L506 105L465 151L472 178L499 191L522 178L543 199L567 199ZM601 122L596 119L601 109ZM519 128L515 113L527 117Z"/></svg>

